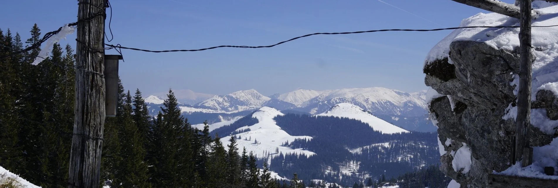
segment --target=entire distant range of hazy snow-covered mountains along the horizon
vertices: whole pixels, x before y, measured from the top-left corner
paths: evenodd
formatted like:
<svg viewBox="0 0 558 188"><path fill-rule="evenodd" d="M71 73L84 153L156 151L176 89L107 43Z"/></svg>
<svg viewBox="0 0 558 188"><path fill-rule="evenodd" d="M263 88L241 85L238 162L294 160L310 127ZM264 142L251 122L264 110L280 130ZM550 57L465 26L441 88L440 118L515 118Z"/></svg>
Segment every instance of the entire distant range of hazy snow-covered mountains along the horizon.
<svg viewBox="0 0 558 188"><path fill-rule="evenodd" d="M166 95L165 95L166 96ZM146 98L150 106L160 106L161 97ZM339 103L350 103L382 118L393 125L412 131L432 131L436 127L427 119L426 91L407 93L383 87L343 88L339 90L297 90L266 97L258 91L246 90L215 95L204 101L189 105L184 103L182 113L189 120L208 118L210 122L220 122L219 117L232 119L237 112L253 111L261 107L273 107L280 111L310 113L318 115ZM150 108L156 115L157 108ZM209 115L208 113L214 113ZM246 114L246 113L242 113ZM199 116L199 117L198 117ZM203 122L203 120L202 120ZM201 123L198 121L191 123Z"/></svg>

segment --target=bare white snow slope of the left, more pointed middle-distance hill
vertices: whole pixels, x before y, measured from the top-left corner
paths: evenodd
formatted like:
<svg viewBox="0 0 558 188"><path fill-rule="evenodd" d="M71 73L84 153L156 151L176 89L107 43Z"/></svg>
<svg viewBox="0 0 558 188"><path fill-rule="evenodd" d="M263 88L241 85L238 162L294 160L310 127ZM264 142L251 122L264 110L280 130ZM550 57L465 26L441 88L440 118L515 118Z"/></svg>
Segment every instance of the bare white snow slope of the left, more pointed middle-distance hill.
<svg viewBox="0 0 558 188"><path fill-rule="evenodd" d="M281 146L286 141L294 141L296 138L306 138L311 139L310 136L291 136L287 132L281 130L281 127L277 126L275 120L276 116L283 116L284 114L275 108L262 107L252 114L253 118L258 119L258 123L247 126L240 127L238 130L248 129L247 132L238 133L234 137L240 136L240 140L237 140L237 147L242 150L246 147L248 152L252 151L258 157L264 157L268 155L278 155L276 150L283 154L287 153L299 153L305 154L307 156L314 155L314 152L306 151L302 149L291 149L290 147ZM230 142L228 139L222 139L223 145L228 145ZM256 144L257 141L257 144Z"/></svg>

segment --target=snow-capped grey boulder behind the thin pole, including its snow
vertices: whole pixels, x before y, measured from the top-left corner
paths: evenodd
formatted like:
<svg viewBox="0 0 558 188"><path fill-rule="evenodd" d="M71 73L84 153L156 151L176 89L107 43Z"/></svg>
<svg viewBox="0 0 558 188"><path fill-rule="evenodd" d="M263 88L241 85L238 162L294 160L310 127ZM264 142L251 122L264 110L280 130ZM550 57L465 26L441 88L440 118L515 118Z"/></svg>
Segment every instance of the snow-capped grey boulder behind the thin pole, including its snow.
<svg viewBox="0 0 558 188"><path fill-rule="evenodd" d="M534 2L538 17L533 26L558 25L558 6L551 6L555 4ZM479 13L460 26L518 26L518 22L497 13ZM539 177L544 166L558 169L558 27L532 28L533 165L521 168L509 161L517 115L518 32L519 28L456 29L426 57L425 83L437 92L429 111L439 127L440 170L463 186L487 187L493 171ZM460 152L463 148L470 152Z"/></svg>

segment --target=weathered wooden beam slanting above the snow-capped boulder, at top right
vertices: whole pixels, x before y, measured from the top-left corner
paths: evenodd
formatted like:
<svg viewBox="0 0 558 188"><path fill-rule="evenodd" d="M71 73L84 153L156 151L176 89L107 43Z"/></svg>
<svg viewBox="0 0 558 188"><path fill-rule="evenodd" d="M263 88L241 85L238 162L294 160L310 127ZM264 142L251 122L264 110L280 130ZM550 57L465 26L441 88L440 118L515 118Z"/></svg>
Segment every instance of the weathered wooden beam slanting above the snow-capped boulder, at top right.
<svg viewBox="0 0 558 188"><path fill-rule="evenodd" d="M451 1L466 4L472 7L477 7L485 11L504 14L509 17L519 18L520 15L519 7L501 1L496 1L496 0L451 0ZM533 11L530 12L531 12L531 16L533 17L537 14Z"/></svg>

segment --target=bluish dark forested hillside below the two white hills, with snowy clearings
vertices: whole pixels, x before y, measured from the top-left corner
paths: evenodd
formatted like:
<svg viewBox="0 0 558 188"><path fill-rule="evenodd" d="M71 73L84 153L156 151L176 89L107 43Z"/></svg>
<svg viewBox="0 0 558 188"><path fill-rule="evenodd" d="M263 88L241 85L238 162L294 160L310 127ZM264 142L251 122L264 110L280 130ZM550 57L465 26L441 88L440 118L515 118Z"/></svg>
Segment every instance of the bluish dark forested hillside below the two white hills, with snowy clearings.
<svg viewBox="0 0 558 188"><path fill-rule="evenodd" d="M280 175L297 172L300 179L320 179L352 185L363 177L397 177L407 171L437 164L436 133L383 134L367 123L349 118L287 114L275 117L290 135L307 135L283 144L316 155L271 156L271 169ZM386 170L384 172L384 170Z"/></svg>

